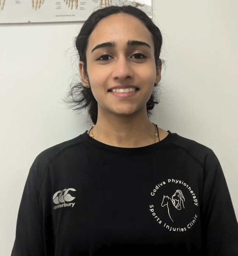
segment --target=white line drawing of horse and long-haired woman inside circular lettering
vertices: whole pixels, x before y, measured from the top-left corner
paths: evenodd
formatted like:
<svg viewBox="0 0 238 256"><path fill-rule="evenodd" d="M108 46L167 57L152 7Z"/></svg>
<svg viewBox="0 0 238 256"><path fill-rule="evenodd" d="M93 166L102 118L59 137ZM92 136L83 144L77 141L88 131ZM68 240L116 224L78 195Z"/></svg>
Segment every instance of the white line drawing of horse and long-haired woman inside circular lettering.
<svg viewBox="0 0 238 256"><path fill-rule="evenodd" d="M167 205L168 214L169 214L170 219L172 220L172 218L170 216L169 208L171 209L171 207L175 207L177 210L181 210L182 207L185 208L184 201L185 201L185 198L183 196L182 191L176 190L176 192L172 196L172 199L168 196L164 196L161 206L164 207L165 205Z"/></svg>

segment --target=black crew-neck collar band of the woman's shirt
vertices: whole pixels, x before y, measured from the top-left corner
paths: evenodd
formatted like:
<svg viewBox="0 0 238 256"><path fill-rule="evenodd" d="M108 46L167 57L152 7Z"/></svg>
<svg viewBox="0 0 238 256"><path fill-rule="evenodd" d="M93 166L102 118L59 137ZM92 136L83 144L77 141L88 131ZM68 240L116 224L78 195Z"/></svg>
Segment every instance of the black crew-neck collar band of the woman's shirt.
<svg viewBox="0 0 238 256"><path fill-rule="evenodd" d="M177 136L177 133L172 133L168 130L167 132L169 134L162 141L157 142L155 144L151 144L144 147L138 147L138 148L121 148L121 147L110 146L100 141L97 141L93 139L90 135L88 135L87 132L88 130L86 130L83 134L81 134L81 138L82 138L82 141L86 143L88 146L98 148L101 151L109 152L111 154L127 155L127 156L145 155L145 154L153 153L158 149L168 146L170 143L172 143L175 140Z"/></svg>

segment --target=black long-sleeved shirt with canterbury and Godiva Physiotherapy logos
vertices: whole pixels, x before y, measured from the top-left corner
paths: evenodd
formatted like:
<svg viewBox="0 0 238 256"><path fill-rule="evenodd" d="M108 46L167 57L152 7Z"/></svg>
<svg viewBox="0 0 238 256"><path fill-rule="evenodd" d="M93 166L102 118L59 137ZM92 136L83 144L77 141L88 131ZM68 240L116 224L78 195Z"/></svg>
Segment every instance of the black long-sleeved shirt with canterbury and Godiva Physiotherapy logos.
<svg viewBox="0 0 238 256"><path fill-rule="evenodd" d="M216 155L168 132L140 148L85 132L41 152L12 256L237 256L237 219Z"/></svg>

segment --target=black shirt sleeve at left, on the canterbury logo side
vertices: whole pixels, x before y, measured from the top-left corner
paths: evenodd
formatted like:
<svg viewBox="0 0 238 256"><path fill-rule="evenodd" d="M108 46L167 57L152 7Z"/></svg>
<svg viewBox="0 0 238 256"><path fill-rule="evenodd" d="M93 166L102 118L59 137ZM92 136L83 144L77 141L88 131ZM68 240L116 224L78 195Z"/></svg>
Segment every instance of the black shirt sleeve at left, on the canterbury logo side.
<svg viewBox="0 0 238 256"><path fill-rule="evenodd" d="M32 164L18 211L16 236L11 256L44 256L43 220L39 197L42 171L38 157Z"/></svg>

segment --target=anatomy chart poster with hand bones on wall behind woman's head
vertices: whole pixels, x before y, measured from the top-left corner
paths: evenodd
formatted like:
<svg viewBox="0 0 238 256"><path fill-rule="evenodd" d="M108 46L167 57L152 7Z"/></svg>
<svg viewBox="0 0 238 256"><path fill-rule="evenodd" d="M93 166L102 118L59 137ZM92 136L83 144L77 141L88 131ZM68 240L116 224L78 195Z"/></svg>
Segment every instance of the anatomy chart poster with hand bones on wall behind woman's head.
<svg viewBox="0 0 238 256"><path fill-rule="evenodd" d="M125 1L151 12L152 0ZM115 0L0 0L0 23L85 21Z"/></svg>

